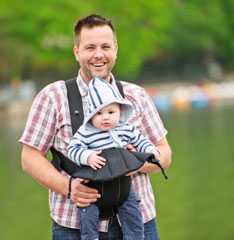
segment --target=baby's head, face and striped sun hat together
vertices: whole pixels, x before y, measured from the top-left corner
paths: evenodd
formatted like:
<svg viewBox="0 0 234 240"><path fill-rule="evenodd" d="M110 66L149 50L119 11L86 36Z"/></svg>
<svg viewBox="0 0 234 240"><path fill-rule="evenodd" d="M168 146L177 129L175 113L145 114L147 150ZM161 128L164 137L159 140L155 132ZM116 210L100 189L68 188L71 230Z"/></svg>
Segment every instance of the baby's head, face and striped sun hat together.
<svg viewBox="0 0 234 240"><path fill-rule="evenodd" d="M97 77L89 83L87 99L88 108L83 123L85 126L91 124L96 128L109 130L118 123L126 123L132 113L131 103L121 96L118 89ZM107 116L108 119L105 119ZM102 125L103 121L106 124Z"/></svg>

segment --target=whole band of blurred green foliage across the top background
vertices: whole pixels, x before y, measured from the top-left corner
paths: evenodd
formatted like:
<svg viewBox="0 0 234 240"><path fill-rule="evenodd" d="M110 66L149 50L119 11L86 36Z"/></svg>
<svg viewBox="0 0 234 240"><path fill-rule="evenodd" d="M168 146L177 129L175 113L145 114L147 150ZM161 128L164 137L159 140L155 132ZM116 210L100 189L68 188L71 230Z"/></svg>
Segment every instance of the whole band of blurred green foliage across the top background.
<svg viewBox="0 0 234 240"><path fill-rule="evenodd" d="M76 68L73 23L91 13L111 18L119 53L115 71L134 77L148 59L212 55L234 62L234 0L41 0L0 2L0 77Z"/></svg>

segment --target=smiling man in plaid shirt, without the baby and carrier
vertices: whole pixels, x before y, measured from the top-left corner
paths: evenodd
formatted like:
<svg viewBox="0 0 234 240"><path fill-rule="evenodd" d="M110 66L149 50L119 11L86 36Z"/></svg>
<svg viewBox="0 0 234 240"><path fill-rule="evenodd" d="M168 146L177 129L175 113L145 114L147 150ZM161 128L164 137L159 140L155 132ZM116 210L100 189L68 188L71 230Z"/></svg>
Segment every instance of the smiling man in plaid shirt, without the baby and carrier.
<svg viewBox="0 0 234 240"><path fill-rule="evenodd" d="M111 70L115 65L118 45L111 21L98 15L90 15L78 21L74 33L73 51L80 65L77 84L85 112L88 83L93 77L103 78L117 89ZM122 85L125 98L134 106L129 123L140 127L157 147L158 158L162 166L168 167L171 162L171 150L166 140L167 131L150 97L142 88L134 84L122 82ZM24 171L50 190L54 240L80 240L76 206L88 206L100 197L100 193L85 186L82 179L74 179L71 182L69 199L67 197L69 176L57 171L45 157L51 147L67 156L67 146L71 137L66 87L64 81L57 81L42 89L34 99L20 139L23 144L22 167ZM156 165L145 163L137 173L132 175L133 187L140 200L146 240L158 239L154 196L148 173L159 171ZM116 218L100 222L100 232L101 240L122 239Z"/></svg>

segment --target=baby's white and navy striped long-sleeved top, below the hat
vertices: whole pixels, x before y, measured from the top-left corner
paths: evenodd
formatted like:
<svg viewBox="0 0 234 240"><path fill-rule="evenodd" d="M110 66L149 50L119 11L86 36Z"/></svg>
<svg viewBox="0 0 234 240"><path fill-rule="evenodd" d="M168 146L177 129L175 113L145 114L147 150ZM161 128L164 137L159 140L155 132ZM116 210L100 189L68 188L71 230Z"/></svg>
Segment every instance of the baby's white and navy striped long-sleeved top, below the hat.
<svg viewBox="0 0 234 240"><path fill-rule="evenodd" d="M154 145L134 126L119 124L109 131L82 125L68 146L68 157L79 166L88 165L88 157L94 150L112 147L125 148L132 144L139 152L152 153Z"/></svg>

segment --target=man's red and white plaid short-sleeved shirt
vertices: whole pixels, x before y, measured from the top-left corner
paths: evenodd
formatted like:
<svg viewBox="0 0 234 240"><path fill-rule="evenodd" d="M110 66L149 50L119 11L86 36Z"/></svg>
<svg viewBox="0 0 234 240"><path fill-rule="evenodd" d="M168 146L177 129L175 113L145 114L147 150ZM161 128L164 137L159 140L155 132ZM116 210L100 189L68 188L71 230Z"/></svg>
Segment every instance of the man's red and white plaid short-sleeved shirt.
<svg viewBox="0 0 234 240"><path fill-rule="evenodd" d="M129 124L139 127L142 133L153 143L165 137L167 131L154 104L145 90L135 84L121 82L125 98L133 104L133 114ZM87 109L88 87L77 77L82 96L84 112ZM112 76L112 84L117 89ZM20 142L34 147L43 153L53 146L67 156L67 146L72 137L67 90L64 81L47 85L35 97ZM65 174L63 172L63 174ZM156 216L155 200L148 174L137 173L132 177L133 188L140 199L144 222ZM79 228L77 207L66 196L49 191L50 214L55 222L69 227ZM100 231L107 231L108 221L100 222Z"/></svg>

